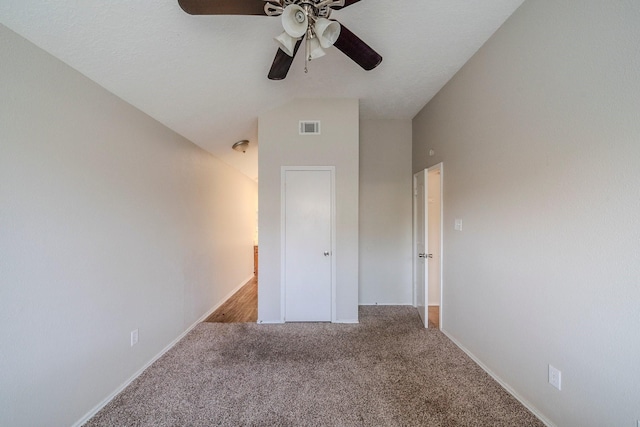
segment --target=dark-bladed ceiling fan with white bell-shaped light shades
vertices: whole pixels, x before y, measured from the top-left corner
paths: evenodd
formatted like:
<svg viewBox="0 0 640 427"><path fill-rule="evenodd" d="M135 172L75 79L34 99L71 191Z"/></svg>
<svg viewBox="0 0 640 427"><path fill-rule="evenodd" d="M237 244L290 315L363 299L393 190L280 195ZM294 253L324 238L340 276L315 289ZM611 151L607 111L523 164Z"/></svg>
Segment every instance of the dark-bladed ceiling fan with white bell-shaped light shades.
<svg viewBox="0 0 640 427"><path fill-rule="evenodd" d="M280 48L269 71L269 79L287 76L298 49L305 41L305 72L309 61L335 46L367 71L382 62L375 50L338 21L331 12L360 0L178 0L191 15L265 15L281 16L284 32L276 37Z"/></svg>

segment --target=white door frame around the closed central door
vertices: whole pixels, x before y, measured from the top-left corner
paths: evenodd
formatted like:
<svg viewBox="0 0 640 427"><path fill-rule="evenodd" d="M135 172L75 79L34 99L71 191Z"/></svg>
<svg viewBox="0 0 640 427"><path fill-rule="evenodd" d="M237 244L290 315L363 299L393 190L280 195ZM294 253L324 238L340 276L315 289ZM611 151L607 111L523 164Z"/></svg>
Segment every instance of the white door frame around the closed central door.
<svg viewBox="0 0 640 427"><path fill-rule="evenodd" d="M286 174L289 171L327 171L331 174L331 322L336 322L336 167L281 166L280 167L280 321L286 313Z"/></svg>

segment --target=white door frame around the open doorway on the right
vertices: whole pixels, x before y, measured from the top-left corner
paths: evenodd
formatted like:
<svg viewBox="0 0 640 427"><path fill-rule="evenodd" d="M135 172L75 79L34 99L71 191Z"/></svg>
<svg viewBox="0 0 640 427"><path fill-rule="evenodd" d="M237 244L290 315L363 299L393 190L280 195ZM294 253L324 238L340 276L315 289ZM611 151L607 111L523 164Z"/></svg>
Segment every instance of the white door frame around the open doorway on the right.
<svg viewBox="0 0 640 427"><path fill-rule="evenodd" d="M439 232L440 232L440 283L436 284L437 286L440 286L440 310L439 310L439 328L443 329L443 316L442 313L444 311L444 279L443 279L443 266L444 266L444 165L442 162L438 163L437 165L431 166L429 168L426 168L422 171L416 172L413 175L413 188L411 190L412 195L414 195L414 197L412 197L412 199L414 200L415 203L415 195L416 195L416 175L424 172L425 174L425 183L424 183L424 191L425 191L425 213L424 213L424 218L425 218L425 224L424 224L424 230L425 230L425 243L426 243L426 252L429 252L428 249L428 242L429 242L429 211L428 211L428 200L429 200L429 172L432 171L440 171L440 224L439 224ZM413 207L413 262L412 262L412 267L413 267L413 306L416 307L417 306L417 282L416 282L416 268L417 268L417 258L418 258L418 248L416 245L416 240L415 240L415 231L416 231L416 206L414 205ZM425 295L425 310L427 310L427 313L425 314L425 317L428 319L429 318L429 266L428 266L428 261L427 262L427 266L425 268L425 288L424 288L424 295ZM429 327L429 322L426 322L427 324L425 325L426 328Z"/></svg>

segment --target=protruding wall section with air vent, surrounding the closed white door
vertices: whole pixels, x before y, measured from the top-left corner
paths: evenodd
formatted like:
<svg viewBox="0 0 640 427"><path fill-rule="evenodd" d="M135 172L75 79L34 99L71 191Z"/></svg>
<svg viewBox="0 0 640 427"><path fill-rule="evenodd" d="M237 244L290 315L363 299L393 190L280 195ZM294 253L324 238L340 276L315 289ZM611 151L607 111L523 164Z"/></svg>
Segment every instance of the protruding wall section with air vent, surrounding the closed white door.
<svg viewBox="0 0 640 427"><path fill-rule="evenodd" d="M356 99L299 99L259 117L259 322L282 321L281 166L336 167L336 317L358 319L358 114ZM322 134L299 135L300 120L320 120Z"/></svg>

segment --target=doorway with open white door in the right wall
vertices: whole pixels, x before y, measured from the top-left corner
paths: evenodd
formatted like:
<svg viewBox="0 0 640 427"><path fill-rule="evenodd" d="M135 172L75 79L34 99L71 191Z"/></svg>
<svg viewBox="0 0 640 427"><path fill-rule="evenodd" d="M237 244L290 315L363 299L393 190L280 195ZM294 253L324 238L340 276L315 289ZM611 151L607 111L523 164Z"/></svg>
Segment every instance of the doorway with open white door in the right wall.
<svg viewBox="0 0 640 427"><path fill-rule="evenodd" d="M413 178L413 305L427 328L442 327L442 169Z"/></svg>

